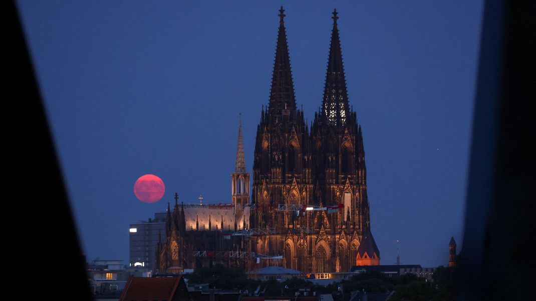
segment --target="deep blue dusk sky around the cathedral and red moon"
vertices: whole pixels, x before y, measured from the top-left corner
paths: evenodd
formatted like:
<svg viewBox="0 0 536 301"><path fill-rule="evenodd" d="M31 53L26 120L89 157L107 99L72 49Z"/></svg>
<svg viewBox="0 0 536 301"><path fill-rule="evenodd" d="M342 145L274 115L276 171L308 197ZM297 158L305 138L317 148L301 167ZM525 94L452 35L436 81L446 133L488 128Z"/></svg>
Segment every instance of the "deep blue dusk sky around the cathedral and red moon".
<svg viewBox="0 0 536 301"><path fill-rule="evenodd" d="M381 263L396 262L397 240L402 264L448 264L451 236L461 248L481 1L18 4L88 260L128 264L129 223L175 192L230 202L239 112L251 172L280 5L309 122L339 12ZM133 193L147 173L166 184L157 203Z"/></svg>

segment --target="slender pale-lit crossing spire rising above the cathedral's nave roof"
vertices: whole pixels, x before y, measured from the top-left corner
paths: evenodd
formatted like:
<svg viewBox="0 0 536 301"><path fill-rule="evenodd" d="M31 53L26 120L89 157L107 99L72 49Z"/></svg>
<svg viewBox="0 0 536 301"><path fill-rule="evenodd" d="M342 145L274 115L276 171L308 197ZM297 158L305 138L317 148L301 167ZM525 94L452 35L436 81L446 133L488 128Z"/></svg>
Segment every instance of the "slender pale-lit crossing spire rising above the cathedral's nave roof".
<svg viewBox="0 0 536 301"><path fill-rule="evenodd" d="M235 171L231 174L231 190L235 206L235 230L243 216L244 205L249 204L249 173L245 170L244 143L242 141L242 116L239 117L238 145L236 148Z"/></svg>

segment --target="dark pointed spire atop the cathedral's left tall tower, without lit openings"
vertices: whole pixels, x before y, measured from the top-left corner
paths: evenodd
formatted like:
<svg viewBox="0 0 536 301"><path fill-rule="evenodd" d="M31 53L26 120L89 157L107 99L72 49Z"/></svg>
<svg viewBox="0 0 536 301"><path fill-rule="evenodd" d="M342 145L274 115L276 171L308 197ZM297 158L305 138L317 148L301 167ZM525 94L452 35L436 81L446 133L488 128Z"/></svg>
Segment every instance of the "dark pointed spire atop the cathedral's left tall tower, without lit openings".
<svg viewBox="0 0 536 301"><path fill-rule="evenodd" d="M285 32L285 10L279 10L279 32L277 34L276 59L273 65L272 88L268 111L273 115L284 113L283 110L296 110L294 85L292 83L291 60L288 56L287 34Z"/></svg>

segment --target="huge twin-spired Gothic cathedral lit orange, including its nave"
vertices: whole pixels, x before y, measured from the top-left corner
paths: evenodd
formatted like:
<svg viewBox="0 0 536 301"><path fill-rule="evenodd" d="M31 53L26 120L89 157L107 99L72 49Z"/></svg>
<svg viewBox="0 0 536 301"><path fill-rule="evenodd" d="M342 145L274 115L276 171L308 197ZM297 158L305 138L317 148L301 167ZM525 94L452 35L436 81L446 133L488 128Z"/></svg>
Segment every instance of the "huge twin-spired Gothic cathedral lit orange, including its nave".
<svg viewBox="0 0 536 301"><path fill-rule="evenodd" d="M239 126L230 204L168 204L161 272L223 264L279 265L303 273L379 265L370 232L361 126L348 103L337 11L322 105L309 127L297 109L284 10L279 14L269 104L260 114L253 183ZM251 197L251 202L250 202Z"/></svg>

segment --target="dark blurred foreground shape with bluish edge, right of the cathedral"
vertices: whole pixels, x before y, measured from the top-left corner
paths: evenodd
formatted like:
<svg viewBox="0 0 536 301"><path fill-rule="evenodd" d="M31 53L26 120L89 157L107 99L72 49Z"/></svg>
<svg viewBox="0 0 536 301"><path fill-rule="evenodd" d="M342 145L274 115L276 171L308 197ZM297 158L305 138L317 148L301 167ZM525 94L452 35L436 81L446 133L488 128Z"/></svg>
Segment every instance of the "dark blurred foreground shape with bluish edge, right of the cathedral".
<svg viewBox="0 0 536 301"><path fill-rule="evenodd" d="M527 300L536 195L534 1L489 0L460 252L460 298Z"/></svg>

